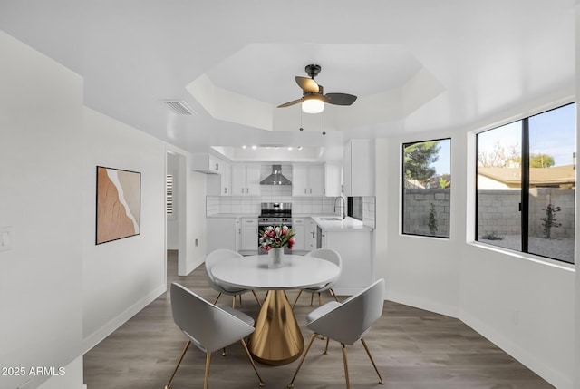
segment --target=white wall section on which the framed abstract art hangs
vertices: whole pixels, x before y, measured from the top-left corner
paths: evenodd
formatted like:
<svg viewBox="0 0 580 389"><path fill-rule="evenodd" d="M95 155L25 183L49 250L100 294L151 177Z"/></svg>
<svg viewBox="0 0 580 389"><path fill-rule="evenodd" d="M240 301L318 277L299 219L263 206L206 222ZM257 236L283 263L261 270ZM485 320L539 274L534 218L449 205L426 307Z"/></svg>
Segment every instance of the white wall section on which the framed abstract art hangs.
<svg viewBox="0 0 580 389"><path fill-rule="evenodd" d="M87 348L165 291L165 143L84 109L83 334ZM95 167L141 173L140 235L95 245Z"/></svg>

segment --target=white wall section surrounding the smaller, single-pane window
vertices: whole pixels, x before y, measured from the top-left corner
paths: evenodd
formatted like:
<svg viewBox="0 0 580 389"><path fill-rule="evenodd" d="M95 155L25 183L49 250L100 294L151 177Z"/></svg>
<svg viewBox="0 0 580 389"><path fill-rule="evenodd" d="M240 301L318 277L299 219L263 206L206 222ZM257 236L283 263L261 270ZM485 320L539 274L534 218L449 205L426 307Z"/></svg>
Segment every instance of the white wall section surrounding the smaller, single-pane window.
<svg viewBox="0 0 580 389"><path fill-rule="evenodd" d="M429 139L440 138L429 135ZM449 134L447 134L449 136ZM441 136L445 137L445 135ZM458 234L451 225L451 238L416 238L400 234L401 143L417 138L390 138L376 141L376 208L375 230L376 268L381 269L387 284L387 298L411 306L419 306L449 316L459 312L460 258L457 250ZM422 140L419 138L419 140ZM455 171L452 170L455 174ZM453 175L453 183L456 178ZM451 223L458 214L456 189L451 187ZM453 234L455 230L456 234Z"/></svg>

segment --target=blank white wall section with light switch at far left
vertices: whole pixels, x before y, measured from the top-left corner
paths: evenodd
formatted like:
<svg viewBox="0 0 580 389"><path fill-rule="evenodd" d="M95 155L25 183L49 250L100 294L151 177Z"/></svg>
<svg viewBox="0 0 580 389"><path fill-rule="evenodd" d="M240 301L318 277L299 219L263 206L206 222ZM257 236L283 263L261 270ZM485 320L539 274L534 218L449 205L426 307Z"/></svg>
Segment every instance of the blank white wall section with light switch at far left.
<svg viewBox="0 0 580 389"><path fill-rule="evenodd" d="M66 366L82 354L82 79L3 32L0 53L0 366ZM28 373L0 387L46 378Z"/></svg>

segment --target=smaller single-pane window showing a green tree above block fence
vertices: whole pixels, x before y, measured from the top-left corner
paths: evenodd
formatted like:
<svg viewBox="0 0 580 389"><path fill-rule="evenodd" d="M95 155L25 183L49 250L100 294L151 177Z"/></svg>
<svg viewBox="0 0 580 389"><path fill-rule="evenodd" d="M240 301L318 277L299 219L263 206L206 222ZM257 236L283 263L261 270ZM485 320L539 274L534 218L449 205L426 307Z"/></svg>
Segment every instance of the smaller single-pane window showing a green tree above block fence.
<svg viewBox="0 0 580 389"><path fill-rule="evenodd" d="M451 140L402 145L402 233L449 238Z"/></svg>

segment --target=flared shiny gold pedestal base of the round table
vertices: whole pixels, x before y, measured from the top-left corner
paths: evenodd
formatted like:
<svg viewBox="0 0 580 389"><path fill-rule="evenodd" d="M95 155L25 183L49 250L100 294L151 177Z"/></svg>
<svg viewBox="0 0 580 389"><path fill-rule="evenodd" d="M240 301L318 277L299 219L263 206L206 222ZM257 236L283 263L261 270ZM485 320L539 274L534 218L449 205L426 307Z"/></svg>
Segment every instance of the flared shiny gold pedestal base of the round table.
<svg viewBox="0 0 580 389"><path fill-rule="evenodd" d="M268 291L247 347L264 365L286 365L302 355L304 337L284 290Z"/></svg>

